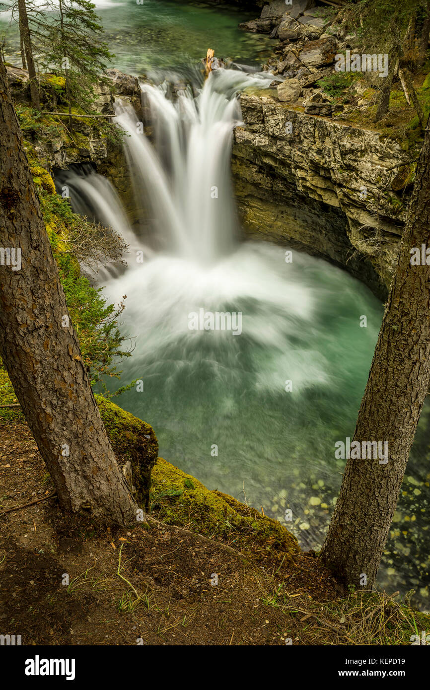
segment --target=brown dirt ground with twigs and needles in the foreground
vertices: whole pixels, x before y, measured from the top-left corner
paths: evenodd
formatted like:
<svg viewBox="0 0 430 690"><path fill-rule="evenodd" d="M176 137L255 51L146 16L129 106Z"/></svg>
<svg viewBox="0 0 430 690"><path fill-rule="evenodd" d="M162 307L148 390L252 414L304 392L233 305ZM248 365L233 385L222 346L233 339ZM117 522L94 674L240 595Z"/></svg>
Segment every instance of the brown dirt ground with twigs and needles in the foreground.
<svg viewBox="0 0 430 690"><path fill-rule="evenodd" d="M156 518L100 531L64 515L28 426L0 422L1 633L30 645L354 643L328 613L340 591L313 553L252 562Z"/></svg>

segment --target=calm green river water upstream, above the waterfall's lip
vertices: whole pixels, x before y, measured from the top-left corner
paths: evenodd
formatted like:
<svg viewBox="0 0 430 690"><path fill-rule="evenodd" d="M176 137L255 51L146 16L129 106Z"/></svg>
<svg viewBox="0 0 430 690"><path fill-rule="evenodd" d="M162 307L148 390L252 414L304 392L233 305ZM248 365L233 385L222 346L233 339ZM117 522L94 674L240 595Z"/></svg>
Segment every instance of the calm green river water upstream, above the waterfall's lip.
<svg viewBox="0 0 430 690"><path fill-rule="evenodd" d="M97 2L108 48L115 53L113 66L133 75L155 69L175 69L197 63L208 48L215 55L248 65L263 63L274 43L266 35L237 28L255 18L226 6L183 3L175 0ZM6 59L19 64L19 34L16 23L0 17L0 37L6 32Z"/></svg>

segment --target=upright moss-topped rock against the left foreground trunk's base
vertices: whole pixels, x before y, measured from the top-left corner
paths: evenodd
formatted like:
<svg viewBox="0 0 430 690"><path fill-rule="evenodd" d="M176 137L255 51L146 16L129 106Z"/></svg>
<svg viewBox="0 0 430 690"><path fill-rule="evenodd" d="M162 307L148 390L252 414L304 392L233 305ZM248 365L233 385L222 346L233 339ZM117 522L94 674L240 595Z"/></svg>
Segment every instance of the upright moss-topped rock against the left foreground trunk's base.
<svg viewBox="0 0 430 690"><path fill-rule="evenodd" d="M102 395L96 395L95 399L119 464L123 467L128 461L131 464L135 500L148 509L151 471L158 456L153 428Z"/></svg>

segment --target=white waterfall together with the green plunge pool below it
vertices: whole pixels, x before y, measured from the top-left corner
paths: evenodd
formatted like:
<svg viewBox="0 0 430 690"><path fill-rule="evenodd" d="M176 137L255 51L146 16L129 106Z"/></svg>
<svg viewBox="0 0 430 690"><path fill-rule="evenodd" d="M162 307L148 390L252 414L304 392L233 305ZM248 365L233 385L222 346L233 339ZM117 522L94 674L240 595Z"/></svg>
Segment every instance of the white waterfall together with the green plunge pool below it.
<svg viewBox="0 0 430 690"><path fill-rule="evenodd" d="M240 237L229 171L236 94L271 78L218 70L201 88L142 83L146 133L117 103L135 207L146 216L125 226L126 271L102 281L109 302L127 295L121 331L135 338L118 386L143 383L121 406L153 425L162 457L240 500L245 486L248 502L281 522L293 509L289 529L318 546L329 511L309 500L333 506L338 495L334 443L353 432L381 310L322 259ZM104 222L124 224L95 173L73 185ZM139 263L142 242L153 254ZM240 335L190 328L202 312L240 315Z"/></svg>

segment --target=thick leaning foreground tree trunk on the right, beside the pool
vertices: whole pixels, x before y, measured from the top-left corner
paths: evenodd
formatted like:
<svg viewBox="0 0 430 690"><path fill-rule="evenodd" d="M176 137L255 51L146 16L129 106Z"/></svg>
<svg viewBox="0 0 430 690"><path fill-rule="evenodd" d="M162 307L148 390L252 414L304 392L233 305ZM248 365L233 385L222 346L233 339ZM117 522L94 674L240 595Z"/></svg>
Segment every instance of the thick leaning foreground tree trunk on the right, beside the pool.
<svg viewBox="0 0 430 690"><path fill-rule="evenodd" d="M430 266L411 249L430 246L430 129L353 440L389 444L389 460L347 460L322 561L345 584L367 586L380 564L430 382ZM430 254L430 252L429 252ZM430 257L428 259L430 264ZM382 446L384 447L384 446Z"/></svg>

